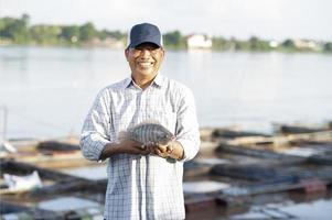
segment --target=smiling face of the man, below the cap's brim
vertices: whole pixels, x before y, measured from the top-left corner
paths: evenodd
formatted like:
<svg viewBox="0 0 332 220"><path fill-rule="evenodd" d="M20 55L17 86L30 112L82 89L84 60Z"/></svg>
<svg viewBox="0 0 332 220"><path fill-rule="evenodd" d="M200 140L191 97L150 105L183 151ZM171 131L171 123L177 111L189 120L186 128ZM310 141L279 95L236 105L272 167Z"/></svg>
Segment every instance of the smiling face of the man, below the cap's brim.
<svg viewBox="0 0 332 220"><path fill-rule="evenodd" d="M156 44L142 43L125 51L131 73L136 76L154 76L163 59L164 51Z"/></svg>

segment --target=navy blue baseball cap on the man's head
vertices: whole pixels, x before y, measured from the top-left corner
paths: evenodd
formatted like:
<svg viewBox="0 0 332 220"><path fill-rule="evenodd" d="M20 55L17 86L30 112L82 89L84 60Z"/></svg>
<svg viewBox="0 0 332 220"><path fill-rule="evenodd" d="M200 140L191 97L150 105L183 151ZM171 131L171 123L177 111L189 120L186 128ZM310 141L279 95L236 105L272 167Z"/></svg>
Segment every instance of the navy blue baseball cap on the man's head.
<svg viewBox="0 0 332 220"><path fill-rule="evenodd" d="M158 26L150 23L141 23L131 28L128 37L128 48L133 48L142 43L152 43L162 47L162 35Z"/></svg>

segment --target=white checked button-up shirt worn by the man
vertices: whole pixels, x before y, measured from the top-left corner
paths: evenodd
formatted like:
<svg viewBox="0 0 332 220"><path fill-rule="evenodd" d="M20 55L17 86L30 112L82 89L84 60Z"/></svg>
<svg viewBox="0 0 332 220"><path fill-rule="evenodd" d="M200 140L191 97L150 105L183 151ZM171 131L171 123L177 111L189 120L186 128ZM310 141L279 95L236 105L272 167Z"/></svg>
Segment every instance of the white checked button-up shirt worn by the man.
<svg viewBox="0 0 332 220"><path fill-rule="evenodd" d="M84 156L98 161L119 132L144 121L159 121L176 135L184 157L171 163L159 156L114 155L108 161L106 219L184 219L183 162L199 152L200 133L194 98L189 88L157 75L141 90L131 78L104 88L83 125Z"/></svg>

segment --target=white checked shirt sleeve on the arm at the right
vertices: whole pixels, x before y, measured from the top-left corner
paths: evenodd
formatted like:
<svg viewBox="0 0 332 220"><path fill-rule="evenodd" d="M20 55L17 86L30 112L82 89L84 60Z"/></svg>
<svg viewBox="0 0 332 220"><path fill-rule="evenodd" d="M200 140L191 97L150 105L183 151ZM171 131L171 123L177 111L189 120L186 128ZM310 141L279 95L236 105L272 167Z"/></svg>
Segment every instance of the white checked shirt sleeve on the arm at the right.
<svg viewBox="0 0 332 220"><path fill-rule="evenodd" d="M197 154L201 140L193 94L186 88L182 95L176 120L176 140L184 151L181 161L186 162Z"/></svg>

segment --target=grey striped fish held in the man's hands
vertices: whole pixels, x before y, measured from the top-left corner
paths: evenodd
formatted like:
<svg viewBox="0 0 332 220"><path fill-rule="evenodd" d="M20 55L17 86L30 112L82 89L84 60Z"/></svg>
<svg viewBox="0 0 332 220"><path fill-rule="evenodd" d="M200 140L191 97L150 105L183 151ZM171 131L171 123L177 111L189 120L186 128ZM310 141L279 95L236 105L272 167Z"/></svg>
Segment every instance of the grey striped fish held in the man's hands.
<svg viewBox="0 0 332 220"><path fill-rule="evenodd" d="M149 142L167 144L175 139L172 132L158 122L142 122L125 132L120 132L119 136L120 140L130 139L140 142L142 147Z"/></svg>

